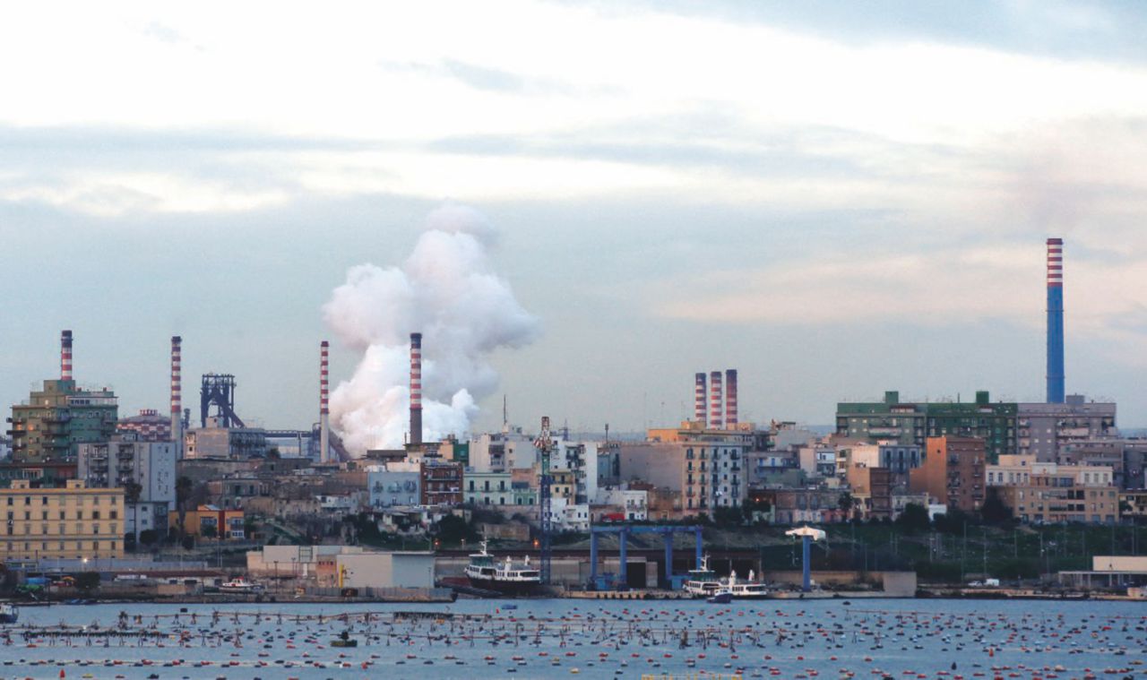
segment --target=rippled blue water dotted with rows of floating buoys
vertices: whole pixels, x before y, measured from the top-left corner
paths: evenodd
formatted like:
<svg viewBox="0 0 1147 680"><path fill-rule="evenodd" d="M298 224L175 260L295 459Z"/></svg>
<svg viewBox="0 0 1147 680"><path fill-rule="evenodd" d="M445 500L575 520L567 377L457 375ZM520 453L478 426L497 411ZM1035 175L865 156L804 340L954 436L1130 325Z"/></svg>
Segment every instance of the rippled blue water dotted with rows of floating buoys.
<svg viewBox="0 0 1147 680"><path fill-rule="evenodd" d="M0 628L0 675L1147 678L1145 603L845 602L25 607ZM85 634L52 634L61 626ZM357 648L331 647L343 631Z"/></svg>

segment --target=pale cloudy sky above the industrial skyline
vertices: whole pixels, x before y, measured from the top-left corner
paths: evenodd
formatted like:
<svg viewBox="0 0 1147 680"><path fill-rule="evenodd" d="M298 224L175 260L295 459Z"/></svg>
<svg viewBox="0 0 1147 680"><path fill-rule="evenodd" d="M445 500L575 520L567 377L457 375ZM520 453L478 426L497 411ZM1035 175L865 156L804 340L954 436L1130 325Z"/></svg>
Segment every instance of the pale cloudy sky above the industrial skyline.
<svg viewBox="0 0 1147 680"><path fill-rule="evenodd" d="M61 21L67 16L67 21ZM122 414L233 373L317 420L322 306L470 206L538 319L475 429L639 430L740 370L741 419L1038 401L1147 425L1139 2L21 3L0 22L0 400L76 336ZM430 350L428 350L429 352ZM360 354L334 342L331 377Z"/></svg>

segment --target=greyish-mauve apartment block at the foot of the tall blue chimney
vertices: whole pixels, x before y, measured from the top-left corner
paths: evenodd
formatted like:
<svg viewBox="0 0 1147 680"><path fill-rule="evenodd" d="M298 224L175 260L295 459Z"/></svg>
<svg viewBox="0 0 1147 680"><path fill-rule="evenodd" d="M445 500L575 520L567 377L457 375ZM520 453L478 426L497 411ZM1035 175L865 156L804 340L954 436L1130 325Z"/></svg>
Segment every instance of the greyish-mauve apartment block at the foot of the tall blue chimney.
<svg viewBox="0 0 1147 680"><path fill-rule="evenodd" d="M1063 404L1019 404L1019 453L1039 462L1059 462L1061 450L1089 439L1118 436L1115 404L1068 394Z"/></svg>

